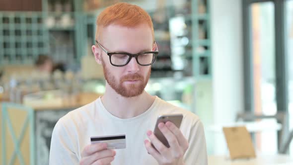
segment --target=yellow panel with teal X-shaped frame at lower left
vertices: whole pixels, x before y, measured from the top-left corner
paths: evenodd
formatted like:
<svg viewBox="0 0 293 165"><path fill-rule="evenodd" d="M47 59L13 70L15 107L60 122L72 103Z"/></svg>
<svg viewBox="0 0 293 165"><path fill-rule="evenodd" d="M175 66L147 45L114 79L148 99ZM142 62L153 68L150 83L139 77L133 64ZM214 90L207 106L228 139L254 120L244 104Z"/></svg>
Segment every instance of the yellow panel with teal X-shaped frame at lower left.
<svg viewBox="0 0 293 165"><path fill-rule="evenodd" d="M35 165L33 109L21 104L1 104L2 158L0 164Z"/></svg>

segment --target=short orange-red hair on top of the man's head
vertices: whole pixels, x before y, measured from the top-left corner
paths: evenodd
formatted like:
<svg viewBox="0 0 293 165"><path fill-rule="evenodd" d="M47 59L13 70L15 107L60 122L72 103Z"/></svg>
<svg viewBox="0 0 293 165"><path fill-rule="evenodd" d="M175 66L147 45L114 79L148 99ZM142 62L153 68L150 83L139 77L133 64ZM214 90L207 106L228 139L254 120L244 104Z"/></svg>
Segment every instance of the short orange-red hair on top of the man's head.
<svg viewBox="0 0 293 165"><path fill-rule="evenodd" d="M98 16L96 28L96 39L99 37L99 32L102 28L111 24L121 25L125 27L136 27L141 24L147 24L151 29L154 39L153 24L147 11L142 7L120 2L113 4L104 9Z"/></svg>

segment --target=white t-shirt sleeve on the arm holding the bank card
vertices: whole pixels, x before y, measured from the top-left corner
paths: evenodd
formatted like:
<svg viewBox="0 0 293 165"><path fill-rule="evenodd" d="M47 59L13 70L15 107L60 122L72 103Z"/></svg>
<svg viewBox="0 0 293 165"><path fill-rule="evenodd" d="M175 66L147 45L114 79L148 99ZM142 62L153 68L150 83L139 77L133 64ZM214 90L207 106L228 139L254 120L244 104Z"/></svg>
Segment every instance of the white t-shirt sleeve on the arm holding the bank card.
<svg viewBox="0 0 293 165"><path fill-rule="evenodd" d="M73 150L73 136L70 136L61 120L54 127L51 139L49 165L78 165Z"/></svg>

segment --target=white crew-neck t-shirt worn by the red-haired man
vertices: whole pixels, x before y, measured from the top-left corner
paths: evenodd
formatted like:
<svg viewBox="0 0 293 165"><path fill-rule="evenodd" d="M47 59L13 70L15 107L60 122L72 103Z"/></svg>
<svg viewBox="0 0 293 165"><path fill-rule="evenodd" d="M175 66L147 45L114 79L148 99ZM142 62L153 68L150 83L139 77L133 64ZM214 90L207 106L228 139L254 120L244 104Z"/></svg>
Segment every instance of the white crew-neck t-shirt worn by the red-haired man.
<svg viewBox="0 0 293 165"><path fill-rule="evenodd" d="M125 109L124 109L125 110ZM111 165L157 165L145 148L147 130L153 130L157 116L182 113L180 130L189 142L185 165L208 165L203 124L194 113L156 97L143 114L121 119L109 113L100 98L69 112L55 125L50 148L50 165L78 165L92 136L126 135L126 149L116 150Z"/></svg>

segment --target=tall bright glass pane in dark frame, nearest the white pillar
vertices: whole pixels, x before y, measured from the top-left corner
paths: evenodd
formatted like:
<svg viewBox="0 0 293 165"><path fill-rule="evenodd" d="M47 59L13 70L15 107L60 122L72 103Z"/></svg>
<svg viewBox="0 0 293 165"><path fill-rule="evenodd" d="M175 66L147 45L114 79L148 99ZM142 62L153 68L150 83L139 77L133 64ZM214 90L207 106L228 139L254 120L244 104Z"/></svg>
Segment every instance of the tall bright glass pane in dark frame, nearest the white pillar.
<svg viewBox="0 0 293 165"><path fill-rule="evenodd" d="M277 112L275 84L274 3L251 4L254 111L274 115Z"/></svg>

